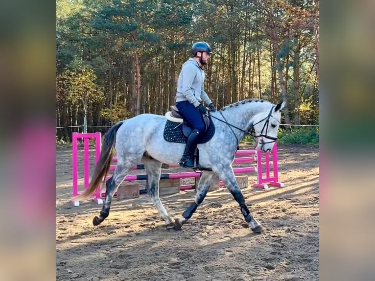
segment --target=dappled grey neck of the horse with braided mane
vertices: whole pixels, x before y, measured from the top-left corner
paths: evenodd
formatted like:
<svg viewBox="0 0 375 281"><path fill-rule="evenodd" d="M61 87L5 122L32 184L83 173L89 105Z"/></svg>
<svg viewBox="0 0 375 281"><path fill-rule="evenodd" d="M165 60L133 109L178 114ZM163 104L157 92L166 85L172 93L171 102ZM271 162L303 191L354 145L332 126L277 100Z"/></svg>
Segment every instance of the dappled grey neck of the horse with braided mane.
<svg viewBox="0 0 375 281"><path fill-rule="evenodd" d="M231 125L240 128L241 130L247 131L250 128L250 120L258 113L266 111L272 105L269 102L256 102L246 101L245 103L239 103L238 105L233 105L232 107L227 107L225 110L221 110L221 113ZM221 117L220 113L217 117ZM222 117L221 117L222 119ZM241 140L246 133L241 132L235 128L232 128L234 134L236 135L238 141Z"/></svg>

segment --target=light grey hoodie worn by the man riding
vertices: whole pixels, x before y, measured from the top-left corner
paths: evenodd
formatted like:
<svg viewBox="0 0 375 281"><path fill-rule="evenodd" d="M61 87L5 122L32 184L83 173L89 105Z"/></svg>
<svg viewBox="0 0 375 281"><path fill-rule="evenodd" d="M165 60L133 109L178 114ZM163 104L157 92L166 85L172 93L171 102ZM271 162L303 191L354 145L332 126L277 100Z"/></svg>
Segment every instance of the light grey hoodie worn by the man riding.
<svg viewBox="0 0 375 281"><path fill-rule="evenodd" d="M203 101L210 105L212 101L203 88L204 81L205 71L193 58L189 58L178 75L176 102L188 100L197 107Z"/></svg>

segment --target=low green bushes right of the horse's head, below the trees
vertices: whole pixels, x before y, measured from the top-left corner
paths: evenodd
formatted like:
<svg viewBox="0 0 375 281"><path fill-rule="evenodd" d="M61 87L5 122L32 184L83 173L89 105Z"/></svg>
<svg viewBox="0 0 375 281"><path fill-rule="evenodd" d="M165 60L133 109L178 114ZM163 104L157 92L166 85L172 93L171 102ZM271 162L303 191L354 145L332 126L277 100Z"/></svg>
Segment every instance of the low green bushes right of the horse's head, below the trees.
<svg viewBox="0 0 375 281"><path fill-rule="evenodd" d="M292 129L291 133L287 133L283 129L279 129L278 143L280 144L319 144L319 128L302 127Z"/></svg>

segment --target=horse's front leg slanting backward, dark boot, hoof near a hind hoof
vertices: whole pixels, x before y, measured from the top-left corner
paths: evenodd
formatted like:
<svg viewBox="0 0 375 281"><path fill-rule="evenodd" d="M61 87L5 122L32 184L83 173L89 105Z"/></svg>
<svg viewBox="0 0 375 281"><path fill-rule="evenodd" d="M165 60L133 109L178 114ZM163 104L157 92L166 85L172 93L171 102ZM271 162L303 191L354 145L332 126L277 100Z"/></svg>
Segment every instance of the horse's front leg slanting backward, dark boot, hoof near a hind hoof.
<svg viewBox="0 0 375 281"><path fill-rule="evenodd" d="M176 218L174 221L174 228L176 230L181 230L181 227L184 224L184 222L186 222L193 215L195 210L197 210L198 206L203 202L203 200L206 197L207 191L210 188L213 175L213 172L203 171L202 176L199 180L198 190L197 194L195 195L194 202L191 203L188 209L186 209L183 212L182 217Z"/></svg>

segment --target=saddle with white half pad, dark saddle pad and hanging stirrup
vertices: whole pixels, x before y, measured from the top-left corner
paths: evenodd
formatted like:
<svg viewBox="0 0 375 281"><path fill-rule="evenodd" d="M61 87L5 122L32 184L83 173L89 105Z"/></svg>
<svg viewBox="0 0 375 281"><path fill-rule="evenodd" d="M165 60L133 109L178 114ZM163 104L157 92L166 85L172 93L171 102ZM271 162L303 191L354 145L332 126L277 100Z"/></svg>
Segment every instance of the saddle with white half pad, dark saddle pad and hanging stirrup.
<svg viewBox="0 0 375 281"><path fill-rule="evenodd" d="M172 105L170 107L171 111L165 113L167 121L164 127L164 140L168 142L186 143L188 136L193 131L192 127L188 124L184 117L180 115L177 107ZM199 143L205 143L210 141L215 134L215 126L211 120L210 115L202 115L203 121L205 123L205 130L201 137L198 139ZM199 164L199 150L198 147L194 152L197 165Z"/></svg>

